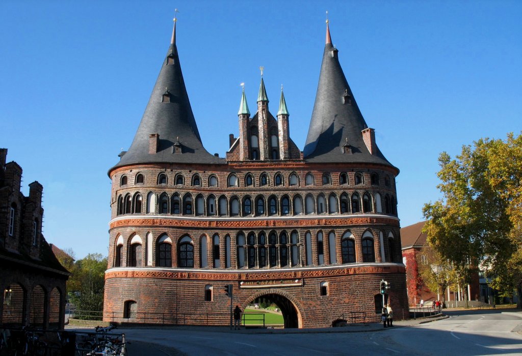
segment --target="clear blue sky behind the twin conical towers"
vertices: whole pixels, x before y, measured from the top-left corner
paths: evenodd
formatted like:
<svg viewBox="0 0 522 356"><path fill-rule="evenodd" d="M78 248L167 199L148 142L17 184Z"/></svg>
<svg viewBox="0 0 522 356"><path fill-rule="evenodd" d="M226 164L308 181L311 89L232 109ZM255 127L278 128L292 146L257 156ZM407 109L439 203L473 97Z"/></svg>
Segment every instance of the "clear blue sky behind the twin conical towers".
<svg viewBox="0 0 522 356"><path fill-rule="evenodd" d="M44 186L46 239L77 258L107 254L111 182L170 41L203 144L224 157L241 87L259 66L303 149L328 10L333 43L379 148L400 169L401 225L437 199L438 154L522 130L520 1L0 2L0 146Z"/></svg>

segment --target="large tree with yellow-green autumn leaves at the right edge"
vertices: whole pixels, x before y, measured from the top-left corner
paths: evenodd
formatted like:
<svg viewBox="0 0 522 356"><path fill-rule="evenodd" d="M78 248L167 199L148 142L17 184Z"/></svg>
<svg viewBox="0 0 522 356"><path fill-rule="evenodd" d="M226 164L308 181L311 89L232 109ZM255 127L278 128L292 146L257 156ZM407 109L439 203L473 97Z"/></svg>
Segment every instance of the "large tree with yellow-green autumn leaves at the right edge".
<svg viewBox="0 0 522 356"><path fill-rule="evenodd" d="M443 198L424 205L423 231L452 262L461 287L485 261L499 283L515 282L522 296L521 144L520 135L509 134L506 142L485 138L463 146L455 159L446 152L439 157Z"/></svg>

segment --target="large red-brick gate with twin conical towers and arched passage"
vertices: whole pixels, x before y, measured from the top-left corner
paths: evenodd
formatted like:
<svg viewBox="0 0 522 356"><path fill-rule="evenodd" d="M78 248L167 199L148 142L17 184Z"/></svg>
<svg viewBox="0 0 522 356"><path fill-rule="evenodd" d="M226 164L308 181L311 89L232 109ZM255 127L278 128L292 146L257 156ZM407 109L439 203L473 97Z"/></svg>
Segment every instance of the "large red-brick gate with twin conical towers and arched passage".
<svg viewBox="0 0 522 356"><path fill-rule="evenodd" d="M243 90L226 158L201 143L175 28L134 141L109 170L104 320L226 325L231 284L234 305L274 302L286 327L351 311L378 321L382 279L395 315L408 315L399 170L362 117L328 24L304 150L282 90L274 116L262 78L252 117Z"/></svg>

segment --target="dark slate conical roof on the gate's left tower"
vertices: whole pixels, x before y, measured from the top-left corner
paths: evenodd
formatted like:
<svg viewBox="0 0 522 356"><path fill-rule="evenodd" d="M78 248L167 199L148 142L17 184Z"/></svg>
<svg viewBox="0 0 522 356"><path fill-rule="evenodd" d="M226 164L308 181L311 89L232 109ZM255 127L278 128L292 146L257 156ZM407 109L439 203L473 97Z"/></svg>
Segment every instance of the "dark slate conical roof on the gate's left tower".
<svg viewBox="0 0 522 356"><path fill-rule="evenodd" d="M157 152L150 154L151 133L159 134L159 143ZM178 140L182 146L182 153L174 154L173 146ZM175 21L167 55L161 65L156 85L134 141L115 167L156 162L224 163L224 159L211 155L201 143L181 72L176 47Z"/></svg>

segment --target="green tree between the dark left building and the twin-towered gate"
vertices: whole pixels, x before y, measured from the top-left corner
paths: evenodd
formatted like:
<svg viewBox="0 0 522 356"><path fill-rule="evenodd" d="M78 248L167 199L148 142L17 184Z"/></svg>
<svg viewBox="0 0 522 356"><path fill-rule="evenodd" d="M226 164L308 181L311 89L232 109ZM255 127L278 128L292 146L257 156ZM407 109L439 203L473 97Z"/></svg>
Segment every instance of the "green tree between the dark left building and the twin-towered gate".
<svg viewBox="0 0 522 356"><path fill-rule="evenodd" d="M101 253L89 253L75 263L70 291L78 310L103 311L106 267L107 258Z"/></svg>

